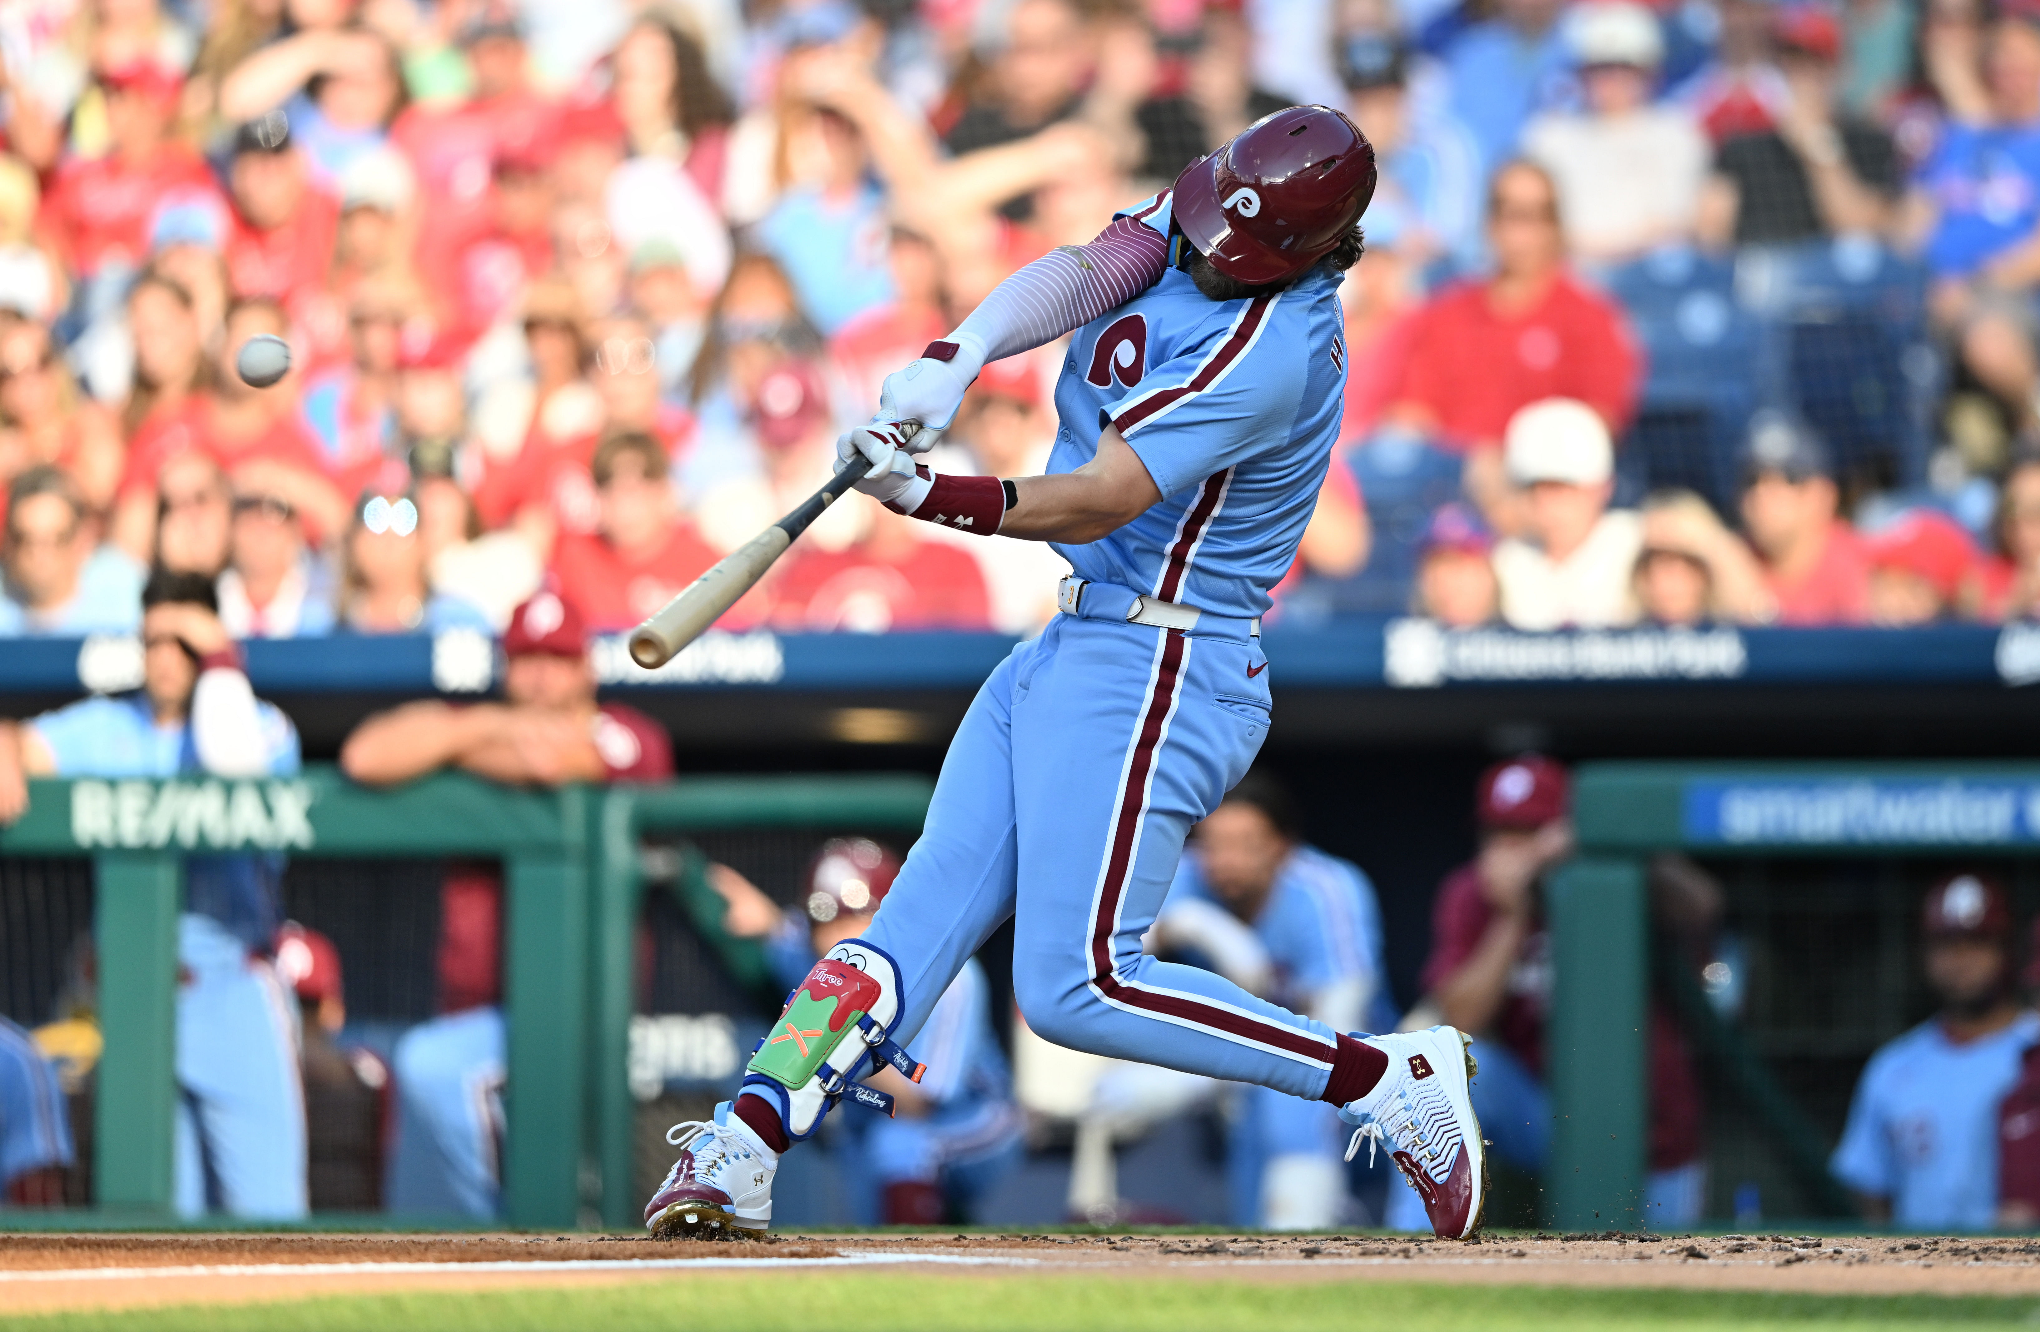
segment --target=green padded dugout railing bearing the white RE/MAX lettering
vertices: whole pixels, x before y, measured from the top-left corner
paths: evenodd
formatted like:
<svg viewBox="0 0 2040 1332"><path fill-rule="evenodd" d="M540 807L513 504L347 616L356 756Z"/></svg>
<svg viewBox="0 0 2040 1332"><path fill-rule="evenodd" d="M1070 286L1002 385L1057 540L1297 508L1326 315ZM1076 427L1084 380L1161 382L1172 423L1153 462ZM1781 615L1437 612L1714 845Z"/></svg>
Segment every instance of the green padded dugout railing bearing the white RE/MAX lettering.
<svg viewBox="0 0 2040 1332"><path fill-rule="evenodd" d="M647 832L918 832L920 777L702 777L659 787L522 791L463 775L367 789L298 777L37 779L0 857L88 861L94 1010L92 1206L171 1212L177 914L190 853L292 861L500 861L504 877L502 1214L512 1226L634 1220L626 1042ZM708 912L698 928L712 930ZM714 940L710 940L714 942ZM33 1214L16 1214L33 1220Z"/></svg>

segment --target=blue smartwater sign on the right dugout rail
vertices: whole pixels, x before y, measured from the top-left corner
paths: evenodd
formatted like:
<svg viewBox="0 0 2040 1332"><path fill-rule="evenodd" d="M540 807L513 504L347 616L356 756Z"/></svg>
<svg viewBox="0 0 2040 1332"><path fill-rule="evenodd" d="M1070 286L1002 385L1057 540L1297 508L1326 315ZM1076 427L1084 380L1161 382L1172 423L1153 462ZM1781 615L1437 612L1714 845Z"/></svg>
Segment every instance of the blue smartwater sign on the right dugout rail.
<svg viewBox="0 0 2040 1332"><path fill-rule="evenodd" d="M2040 842L2040 783L1689 781L1685 836L1724 847L2026 847Z"/></svg>

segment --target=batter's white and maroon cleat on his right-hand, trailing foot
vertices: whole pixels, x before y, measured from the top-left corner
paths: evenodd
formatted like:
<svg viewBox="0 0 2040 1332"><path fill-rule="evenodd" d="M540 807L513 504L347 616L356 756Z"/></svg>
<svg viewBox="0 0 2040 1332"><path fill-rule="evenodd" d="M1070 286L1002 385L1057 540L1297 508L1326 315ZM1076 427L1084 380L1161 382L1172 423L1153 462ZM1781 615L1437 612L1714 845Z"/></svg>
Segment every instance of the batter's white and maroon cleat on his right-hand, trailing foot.
<svg viewBox="0 0 2040 1332"><path fill-rule="evenodd" d="M1424 1199L1430 1228L1440 1240L1463 1240L1481 1228L1487 1208L1487 1144L1473 1116L1469 1083L1473 1038L1452 1026L1426 1032L1367 1036L1389 1057L1387 1073L1367 1095L1338 1110L1353 1124L1346 1161L1369 1138L1367 1159L1387 1144L1389 1161Z"/></svg>

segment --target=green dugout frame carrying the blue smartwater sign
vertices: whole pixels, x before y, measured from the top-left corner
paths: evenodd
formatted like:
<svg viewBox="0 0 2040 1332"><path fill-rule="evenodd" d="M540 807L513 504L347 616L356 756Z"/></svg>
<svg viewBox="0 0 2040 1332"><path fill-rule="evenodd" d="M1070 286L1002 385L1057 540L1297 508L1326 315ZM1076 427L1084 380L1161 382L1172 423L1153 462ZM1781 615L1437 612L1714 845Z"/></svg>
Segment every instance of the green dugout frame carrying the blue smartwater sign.
<svg viewBox="0 0 2040 1332"><path fill-rule="evenodd" d="M1579 855L1546 898L1546 1212L1565 1230L1636 1230L1648 1144L1650 857L2040 855L2040 765L1591 763L1577 773L1575 822ZM1809 1171L1824 1169L1826 1144L1773 1097L1761 1067L1744 1067L1740 1091L1771 1097L1758 1110Z"/></svg>

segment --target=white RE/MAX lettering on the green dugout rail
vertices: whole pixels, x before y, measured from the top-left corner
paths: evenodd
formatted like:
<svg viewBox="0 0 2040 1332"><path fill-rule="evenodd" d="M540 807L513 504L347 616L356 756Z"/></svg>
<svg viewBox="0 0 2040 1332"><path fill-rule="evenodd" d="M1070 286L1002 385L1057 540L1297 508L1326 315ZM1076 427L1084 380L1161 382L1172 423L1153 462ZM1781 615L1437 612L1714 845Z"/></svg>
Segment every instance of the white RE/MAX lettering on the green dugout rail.
<svg viewBox="0 0 2040 1332"><path fill-rule="evenodd" d="M306 781L73 781L71 840L124 849L310 847Z"/></svg>

